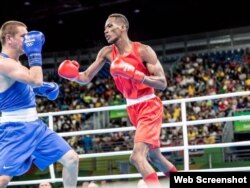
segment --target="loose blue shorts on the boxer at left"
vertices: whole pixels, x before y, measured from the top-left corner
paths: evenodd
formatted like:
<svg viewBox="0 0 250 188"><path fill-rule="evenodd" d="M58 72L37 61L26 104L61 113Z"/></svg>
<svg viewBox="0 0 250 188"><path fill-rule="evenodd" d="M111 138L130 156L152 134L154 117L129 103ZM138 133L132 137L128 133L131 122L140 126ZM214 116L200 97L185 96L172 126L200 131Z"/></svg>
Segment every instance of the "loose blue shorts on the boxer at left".
<svg viewBox="0 0 250 188"><path fill-rule="evenodd" d="M71 150L69 144L41 120L0 124L0 175L20 176L32 163L40 170Z"/></svg>

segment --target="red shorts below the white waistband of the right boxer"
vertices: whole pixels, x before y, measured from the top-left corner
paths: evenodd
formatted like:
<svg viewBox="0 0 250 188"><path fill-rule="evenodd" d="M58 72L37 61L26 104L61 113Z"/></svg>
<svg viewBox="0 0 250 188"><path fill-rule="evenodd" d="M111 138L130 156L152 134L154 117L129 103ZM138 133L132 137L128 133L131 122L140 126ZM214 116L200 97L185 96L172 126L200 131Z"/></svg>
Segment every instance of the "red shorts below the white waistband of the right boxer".
<svg viewBox="0 0 250 188"><path fill-rule="evenodd" d="M150 144L150 148L160 147L160 133L163 116L163 104L159 97L127 107L129 119L135 126L134 142Z"/></svg>

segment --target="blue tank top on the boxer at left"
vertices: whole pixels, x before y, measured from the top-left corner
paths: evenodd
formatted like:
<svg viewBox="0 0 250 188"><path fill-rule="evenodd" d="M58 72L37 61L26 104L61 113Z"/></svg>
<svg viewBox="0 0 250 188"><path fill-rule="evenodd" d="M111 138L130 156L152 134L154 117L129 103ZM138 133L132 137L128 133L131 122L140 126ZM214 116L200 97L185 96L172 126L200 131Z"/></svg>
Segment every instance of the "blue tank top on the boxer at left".
<svg viewBox="0 0 250 188"><path fill-rule="evenodd" d="M0 55L8 58L2 53ZM33 88L28 84L16 81L7 90L0 92L1 112L10 112L32 107L36 107L36 98Z"/></svg>

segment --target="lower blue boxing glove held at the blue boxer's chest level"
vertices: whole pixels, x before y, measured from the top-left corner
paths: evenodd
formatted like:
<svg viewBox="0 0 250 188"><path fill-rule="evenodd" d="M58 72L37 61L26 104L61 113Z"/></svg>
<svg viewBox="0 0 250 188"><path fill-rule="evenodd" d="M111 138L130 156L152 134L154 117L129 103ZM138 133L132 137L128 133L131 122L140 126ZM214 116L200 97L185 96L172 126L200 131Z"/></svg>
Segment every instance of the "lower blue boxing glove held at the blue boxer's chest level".
<svg viewBox="0 0 250 188"><path fill-rule="evenodd" d="M34 87L33 91L38 96L47 97L49 100L56 100L59 94L59 86L54 82L43 82L39 87Z"/></svg>

